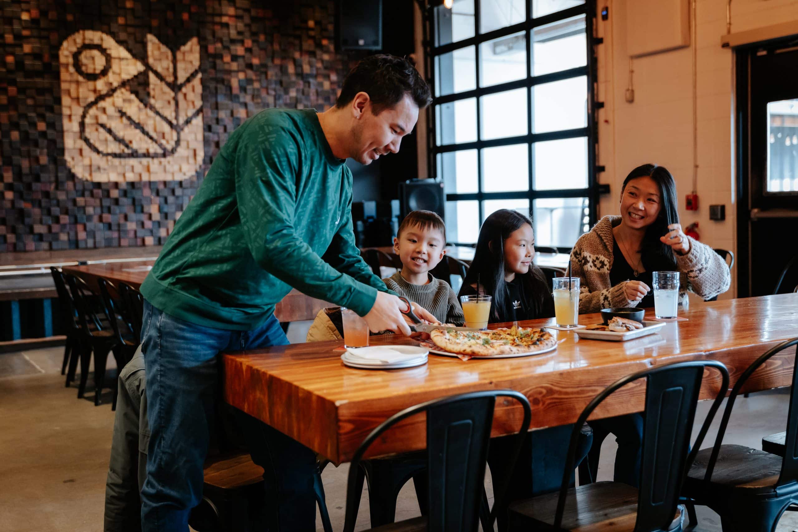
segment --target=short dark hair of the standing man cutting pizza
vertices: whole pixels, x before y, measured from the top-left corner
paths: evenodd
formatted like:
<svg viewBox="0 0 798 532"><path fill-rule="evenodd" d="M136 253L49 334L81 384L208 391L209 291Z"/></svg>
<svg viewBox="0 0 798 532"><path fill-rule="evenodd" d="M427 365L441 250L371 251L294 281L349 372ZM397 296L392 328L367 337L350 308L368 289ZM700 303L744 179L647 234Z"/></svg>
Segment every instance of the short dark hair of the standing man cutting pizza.
<svg viewBox="0 0 798 532"><path fill-rule="evenodd" d="M343 108L361 92L369 95L375 115L398 104L405 94L413 98L419 109L433 101L429 85L421 79L413 63L387 53L365 57L355 65L344 79L335 106Z"/></svg>

